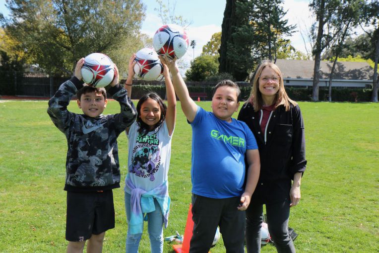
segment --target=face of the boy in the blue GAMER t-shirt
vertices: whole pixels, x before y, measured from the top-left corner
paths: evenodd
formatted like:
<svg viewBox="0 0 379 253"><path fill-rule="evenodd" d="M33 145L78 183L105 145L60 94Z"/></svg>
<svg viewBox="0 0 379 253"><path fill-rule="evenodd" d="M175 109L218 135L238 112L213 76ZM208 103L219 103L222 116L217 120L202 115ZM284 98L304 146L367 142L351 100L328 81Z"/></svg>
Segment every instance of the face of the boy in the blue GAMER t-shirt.
<svg viewBox="0 0 379 253"><path fill-rule="evenodd" d="M222 120L231 122L232 115L238 111L240 102L237 100L237 90L231 86L220 86L212 97L213 114Z"/></svg>

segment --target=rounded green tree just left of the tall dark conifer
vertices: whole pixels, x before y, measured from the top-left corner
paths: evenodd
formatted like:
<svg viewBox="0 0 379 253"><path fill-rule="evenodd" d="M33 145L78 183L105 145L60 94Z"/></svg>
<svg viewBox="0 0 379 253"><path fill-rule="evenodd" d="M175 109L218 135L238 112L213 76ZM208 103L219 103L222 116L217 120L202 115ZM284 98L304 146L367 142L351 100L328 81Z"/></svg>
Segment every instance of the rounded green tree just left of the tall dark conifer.
<svg viewBox="0 0 379 253"><path fill-rule="evenodd" d="M204 81L208 77L217 75L217 72L217 56L203 55L196 57L191 62L191 67L186 72L186 79L189 81Z"/></svg>

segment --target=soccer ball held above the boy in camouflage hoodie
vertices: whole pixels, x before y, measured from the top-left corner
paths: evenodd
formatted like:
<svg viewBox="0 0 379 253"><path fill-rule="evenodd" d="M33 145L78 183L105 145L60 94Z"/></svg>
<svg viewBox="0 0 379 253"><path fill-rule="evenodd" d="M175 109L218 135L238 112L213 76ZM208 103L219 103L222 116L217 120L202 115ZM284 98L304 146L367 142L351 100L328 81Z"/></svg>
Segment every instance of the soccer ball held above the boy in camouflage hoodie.
<svg viewBox="0 0 379 253"><path fill-rule="evenodd" d="M111 58L102 53L92 53L84 57L81 67L83 82L94 87L105 87L112 83L115 68Z"/></svg>

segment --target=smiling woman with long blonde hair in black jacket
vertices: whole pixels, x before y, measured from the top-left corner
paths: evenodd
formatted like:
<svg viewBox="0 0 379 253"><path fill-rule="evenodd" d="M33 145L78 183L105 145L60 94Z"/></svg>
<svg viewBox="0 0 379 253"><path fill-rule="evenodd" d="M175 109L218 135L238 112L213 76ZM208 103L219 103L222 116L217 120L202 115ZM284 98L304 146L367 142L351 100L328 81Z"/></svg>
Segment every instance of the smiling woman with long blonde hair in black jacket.
<svg viewBox="0 0 379 253"><path fill-rule="evenodd" d="M275 64L264 61L258 67L249 101L241 108L238 119L253 131L260 155L259 181L246 210L248 253L260 252L263 204L277 251L294 253L288 218L290 207L299 203L301 177L307 164L304 122Z"/></svg>

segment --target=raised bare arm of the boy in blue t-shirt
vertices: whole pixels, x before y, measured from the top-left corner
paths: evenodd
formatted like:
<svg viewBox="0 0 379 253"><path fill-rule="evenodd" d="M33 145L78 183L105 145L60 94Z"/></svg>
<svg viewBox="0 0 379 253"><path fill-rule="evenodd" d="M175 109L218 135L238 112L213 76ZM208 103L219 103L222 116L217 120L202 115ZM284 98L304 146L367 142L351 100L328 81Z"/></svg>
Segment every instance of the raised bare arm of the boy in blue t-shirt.
<svg viewBox="0 0 379 253"><path fill-rule="evenodd" d="M182 105L182 110L184 115L186 115L188 121L192 122L196 116L197 105L190 97L190 93L188 92L188 88L184 83L182 76L179 73L179 68L176 65L176 58L174 60L168 59L167 56L162 57L159 56L159 59L163 64L166 64L169 68L172 75L172 82L175 89L176 94L179 97L179 100Z"/></svg>

